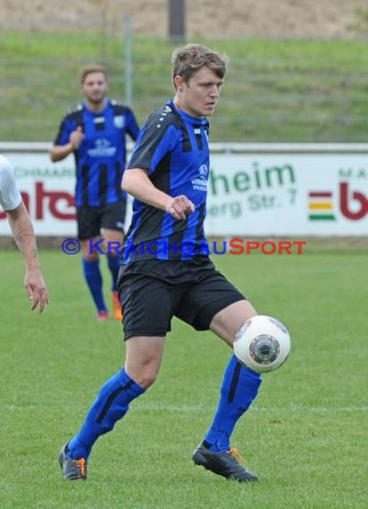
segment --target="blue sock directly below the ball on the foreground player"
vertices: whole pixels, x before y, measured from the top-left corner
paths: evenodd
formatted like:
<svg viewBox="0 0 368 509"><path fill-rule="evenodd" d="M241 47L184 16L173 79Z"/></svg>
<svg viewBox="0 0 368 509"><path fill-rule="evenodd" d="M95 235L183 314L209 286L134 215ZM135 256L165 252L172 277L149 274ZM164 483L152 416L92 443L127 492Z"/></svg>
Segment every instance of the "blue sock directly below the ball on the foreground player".
<svg viewBox="0 0 368 509"><path fill-rule="evenodd" d="M238 419L247 411L261 385L261 376L248 370L232 355L223 375L220 402L204 445L212 451L229 451Z"/></svg>

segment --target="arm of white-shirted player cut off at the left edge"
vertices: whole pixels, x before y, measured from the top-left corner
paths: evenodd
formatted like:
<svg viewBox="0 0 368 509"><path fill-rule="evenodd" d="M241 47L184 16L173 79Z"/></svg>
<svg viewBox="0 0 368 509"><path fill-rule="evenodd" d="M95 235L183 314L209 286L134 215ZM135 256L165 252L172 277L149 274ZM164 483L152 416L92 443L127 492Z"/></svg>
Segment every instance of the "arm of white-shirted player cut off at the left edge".
<svg viewBox="0 0 368 509"><path fill-rule="evenodd" d="M3 155L0 155L0 206L7 213L13 238L24 257L24 286L32 301L31 310L38 308L38 312L42 313L49 299L39 267L36 237L15 182L12 164Z"/></svg>

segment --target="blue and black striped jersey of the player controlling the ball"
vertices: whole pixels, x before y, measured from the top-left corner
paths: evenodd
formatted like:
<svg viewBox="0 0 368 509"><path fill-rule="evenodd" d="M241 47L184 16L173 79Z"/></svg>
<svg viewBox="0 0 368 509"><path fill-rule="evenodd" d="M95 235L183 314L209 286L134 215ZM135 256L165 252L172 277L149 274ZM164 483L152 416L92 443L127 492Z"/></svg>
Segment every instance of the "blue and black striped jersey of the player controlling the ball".
<svg viewBox="0 0 368 509"><path fill-rule="evenodd" d="M146 169L156 188L173 197L187 196L196 210L175 221L170 213L135 199L121 263L146 258L190 260L209 254L204 232L209 167L205 118L176 110L172 101L151 114L128 168Z"/></svg>

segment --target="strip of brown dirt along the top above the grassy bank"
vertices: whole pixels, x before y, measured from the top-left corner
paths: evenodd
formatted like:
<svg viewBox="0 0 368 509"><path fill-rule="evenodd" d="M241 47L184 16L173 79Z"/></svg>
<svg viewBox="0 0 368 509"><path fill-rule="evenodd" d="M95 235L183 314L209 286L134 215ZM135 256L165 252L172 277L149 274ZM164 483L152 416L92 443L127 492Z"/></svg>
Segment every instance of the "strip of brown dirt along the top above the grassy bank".
<svg viewBox="0 0 368 509"><path fill-rule="evenodd" d="M178 0L179 1L179 0ZM169 0L2 0L0 29L166 37ZM368 33L367 0L186 0L187 38L353 38Z"/></svg>

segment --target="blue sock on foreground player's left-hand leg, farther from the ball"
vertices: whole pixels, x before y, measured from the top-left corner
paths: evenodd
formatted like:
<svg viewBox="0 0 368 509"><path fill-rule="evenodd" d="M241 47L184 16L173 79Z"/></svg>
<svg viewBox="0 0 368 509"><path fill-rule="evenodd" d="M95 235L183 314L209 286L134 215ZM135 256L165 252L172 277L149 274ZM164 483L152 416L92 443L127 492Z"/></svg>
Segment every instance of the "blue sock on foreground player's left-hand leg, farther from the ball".
<svg viewBox="0 0 368 509"><path fill-rule="evenodd" d="M100 389L78 434L69 442L67 454L75 459L88 458L96 439L113 430L115 422L128 412L130 401L145 390L124 369L113 375Z"/></svg>

